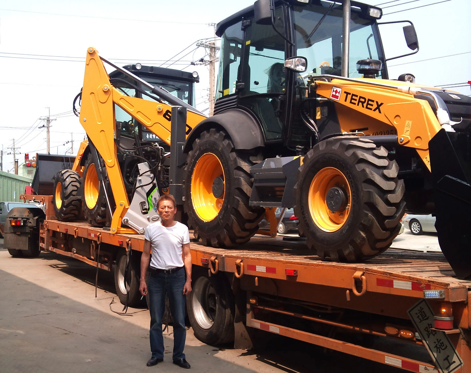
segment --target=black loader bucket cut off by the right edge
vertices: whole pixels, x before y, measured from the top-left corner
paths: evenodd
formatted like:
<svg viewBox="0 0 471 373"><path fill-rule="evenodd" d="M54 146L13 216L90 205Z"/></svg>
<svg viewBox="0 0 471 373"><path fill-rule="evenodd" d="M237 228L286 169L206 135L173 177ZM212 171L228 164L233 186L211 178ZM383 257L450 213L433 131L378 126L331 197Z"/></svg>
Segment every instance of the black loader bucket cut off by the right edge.
<svg viewBox="0 0 471 373"><path fill-rule="evenodd" d="M441 129L429 142L435 228L458 278L471 278L471 135Z"/></svg>

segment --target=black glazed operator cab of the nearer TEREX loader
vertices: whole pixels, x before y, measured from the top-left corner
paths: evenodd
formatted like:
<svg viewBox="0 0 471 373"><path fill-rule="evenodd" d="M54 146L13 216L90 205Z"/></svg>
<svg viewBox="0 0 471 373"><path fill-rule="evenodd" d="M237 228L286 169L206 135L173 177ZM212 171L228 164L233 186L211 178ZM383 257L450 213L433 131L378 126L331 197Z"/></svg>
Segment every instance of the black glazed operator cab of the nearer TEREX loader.
<svg viewBox="0 0 471 373"><path fill-rule="evenodd" d="M230 108L251 113L262 129L267 156L270 148L273 155L302 154L338 133L336 118L317 121L324 112L312 102L308 87L320 75L342 75L343 15L340 1L259 0L221 21L214 113ZM381 16L380 8L351 1L350 78L388 79L377 23ZM294 57L296 66L287 61ZM283 144L284 150L270 144Z"/></svg>

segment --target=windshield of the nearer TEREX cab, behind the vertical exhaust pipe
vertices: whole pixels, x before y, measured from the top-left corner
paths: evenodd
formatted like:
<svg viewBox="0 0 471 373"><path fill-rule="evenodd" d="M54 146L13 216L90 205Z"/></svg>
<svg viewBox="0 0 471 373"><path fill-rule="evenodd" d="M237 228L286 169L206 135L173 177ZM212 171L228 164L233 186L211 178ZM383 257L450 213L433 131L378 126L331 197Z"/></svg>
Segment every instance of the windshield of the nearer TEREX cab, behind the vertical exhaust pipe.
<svg viewBox="0 0 471 373"><path fill-rule="evenodd" d="M357 71L357 61L365 58L382 60L377 46L380 45L375 32L374 20L364 19L351 12L349 77L362 78ZM295 6L297 56L308 59L305 74L341 75L342 66L342 18L340 4L320 1L319 5ZM384 64L383 64L384 66ZM377 78L382 78L380 71Z"/></svg>

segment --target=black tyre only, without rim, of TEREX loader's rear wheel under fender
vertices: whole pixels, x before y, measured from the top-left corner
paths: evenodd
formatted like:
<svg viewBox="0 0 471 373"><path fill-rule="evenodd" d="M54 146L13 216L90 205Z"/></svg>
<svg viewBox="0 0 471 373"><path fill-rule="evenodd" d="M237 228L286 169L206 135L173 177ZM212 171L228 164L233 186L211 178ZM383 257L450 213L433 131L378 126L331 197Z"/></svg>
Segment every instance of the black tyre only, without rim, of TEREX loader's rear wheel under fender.
<svg viewBox="0 0 471 373"><path fill-rule="evenodd" d="M191 195L191 180L196 162L206 153L218 157L226 175L221 210L209 222L198 217ZM193 226L195 238L201 238L203 245L235 246L249 241L257 232L265 209L249 206L253 185L250 167L261 159L259 151L236 151L229 135L215 128L204 131L195 140L185 167L185 212L188 214L188 226Z"/></svg>

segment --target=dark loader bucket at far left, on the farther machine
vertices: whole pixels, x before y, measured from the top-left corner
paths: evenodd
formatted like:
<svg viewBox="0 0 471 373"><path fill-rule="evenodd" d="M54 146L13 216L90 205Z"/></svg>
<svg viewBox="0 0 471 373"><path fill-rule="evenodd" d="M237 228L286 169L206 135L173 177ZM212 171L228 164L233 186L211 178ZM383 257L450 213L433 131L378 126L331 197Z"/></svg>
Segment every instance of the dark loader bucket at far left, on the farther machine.
<svg viewBox="0 0 471 373"><path fill-rule="evenodd" d="M54 192L54 178L60 170L72 168L75 157L57 154L37 154L38 168L32 179L32 189L41 196Z"/></svg>

